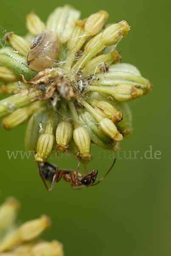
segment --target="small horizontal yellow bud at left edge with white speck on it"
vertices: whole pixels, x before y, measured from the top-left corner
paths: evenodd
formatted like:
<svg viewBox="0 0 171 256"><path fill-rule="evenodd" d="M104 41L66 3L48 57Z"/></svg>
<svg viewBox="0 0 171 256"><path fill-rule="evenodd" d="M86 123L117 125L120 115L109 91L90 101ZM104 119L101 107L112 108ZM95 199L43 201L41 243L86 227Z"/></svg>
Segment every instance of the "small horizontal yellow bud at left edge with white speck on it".
<svg viewBox="0 0 171 256"><path fill-rule="evenodd" d="M0 87L0 93L6 94L17 94L20 93L23 90L26 90L28 87L30 87L31 84L25 84L24 82L20 82L20 87L18 82L12 82L9 84L3 84Z"/></svg>

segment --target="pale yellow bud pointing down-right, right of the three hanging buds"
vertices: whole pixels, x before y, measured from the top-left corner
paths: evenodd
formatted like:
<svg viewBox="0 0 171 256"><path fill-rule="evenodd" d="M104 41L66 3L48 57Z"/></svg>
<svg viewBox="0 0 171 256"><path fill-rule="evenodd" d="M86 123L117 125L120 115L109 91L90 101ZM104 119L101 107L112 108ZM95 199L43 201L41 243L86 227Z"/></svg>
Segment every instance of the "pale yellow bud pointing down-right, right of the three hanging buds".
<svg viewBox="0 0 171 256"><path fill-rule="evenodd" d="M119 131L117 130L117 127L108 118L103 118L100 121L100 128L102 132L106 134L108 137L110 137L112 140L120 141L123 139L122 134L119 133Z"/></svg>

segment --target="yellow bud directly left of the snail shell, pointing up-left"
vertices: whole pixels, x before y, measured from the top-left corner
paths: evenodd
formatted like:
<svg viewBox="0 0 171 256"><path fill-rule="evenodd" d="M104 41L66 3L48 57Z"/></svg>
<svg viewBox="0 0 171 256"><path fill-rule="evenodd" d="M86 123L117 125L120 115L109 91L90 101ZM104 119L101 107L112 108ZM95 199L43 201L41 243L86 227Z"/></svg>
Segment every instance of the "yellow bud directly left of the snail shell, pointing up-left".
<svg viewBox="0 0 171 256"><path fill-rule="evenodd" d="M15 35L14 32L9 32L5 35L5 38L9 44L23 56L27 56L30 49L30 43L19 35Z"/></svg>

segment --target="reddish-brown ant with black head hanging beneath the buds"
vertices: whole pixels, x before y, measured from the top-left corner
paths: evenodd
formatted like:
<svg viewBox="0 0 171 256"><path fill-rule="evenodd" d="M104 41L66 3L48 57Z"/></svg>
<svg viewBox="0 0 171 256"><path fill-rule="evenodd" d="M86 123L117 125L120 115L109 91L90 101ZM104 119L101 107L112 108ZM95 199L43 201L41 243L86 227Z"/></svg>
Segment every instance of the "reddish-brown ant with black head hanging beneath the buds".
<svg viewBox="0 0 171 256"><path fill-rule="evenodd" d="M78 162L76 172L74 172L71 169L68 169L68 170L58 169L59 155L58 155L58 160L57 160L57 166L53 163L47 163L47 162L45 162L45 163L37 162L37 163L38 163L40 177L42 178L43 183L46 186L46 189L50 192L53 189L54 184L56 182L59 182L62 177L66 182L71 183L72 189L82 189L85 186L90 187L90 186L97 185L101 180L104 180L106 175L108 175L108 173L113 168L115 161L116 161L116 158L114 159L114 162L112 163L108 172L106 172L106 174L99 180L96 179L98 170L97 170L97 172L96 172L96 170L93 170L91 173L88 173L88 170L85 167L87 175L84 175L84 174L81 174L80 172L78 172L79 167L80 167L80 160ZM51 182L51 187L49 189L46 184L46 180ZM97 181L97 182L95 183L95 181Z"/></svg>

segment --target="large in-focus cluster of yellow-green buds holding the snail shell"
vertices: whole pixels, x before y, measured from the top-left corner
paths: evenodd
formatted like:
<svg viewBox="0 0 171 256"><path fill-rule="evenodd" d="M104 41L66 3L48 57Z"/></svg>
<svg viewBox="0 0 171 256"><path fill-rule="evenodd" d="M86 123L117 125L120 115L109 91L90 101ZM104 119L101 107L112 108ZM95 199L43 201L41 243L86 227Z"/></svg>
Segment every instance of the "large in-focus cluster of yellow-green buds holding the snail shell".
<svg viewBox="0 0 171 256"><path fill-rule="evenodd" d="M91 143L111 151L132 135L128 101L152 89L131 64L120 63L117 44L131 29L125 20L107 24L99 11L84 20L71 6L58 7L48 20L31 12L28 34L10 32L0 49L3 127L27 124L25 144L46 162L57 148L84 163Z"/></svg>

